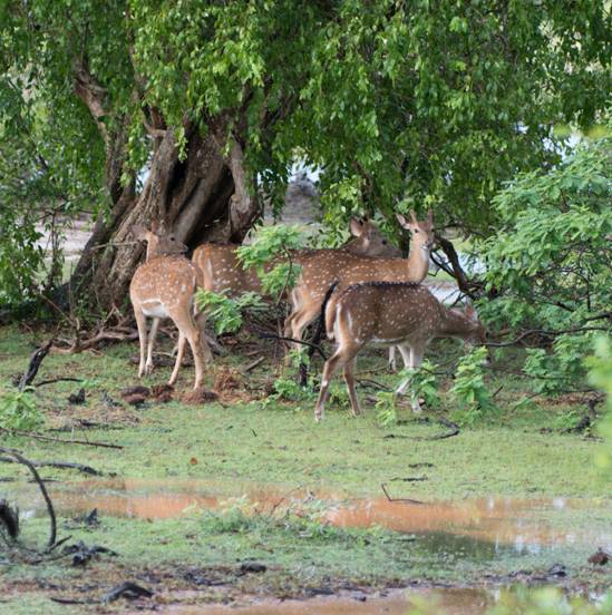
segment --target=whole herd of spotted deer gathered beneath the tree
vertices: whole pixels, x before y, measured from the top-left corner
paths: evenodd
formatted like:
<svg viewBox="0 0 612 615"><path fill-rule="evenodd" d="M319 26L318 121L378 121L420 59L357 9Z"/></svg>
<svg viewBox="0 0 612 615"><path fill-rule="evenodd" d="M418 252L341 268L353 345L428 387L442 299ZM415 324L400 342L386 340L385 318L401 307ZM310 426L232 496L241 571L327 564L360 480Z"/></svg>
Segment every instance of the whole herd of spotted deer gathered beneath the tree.
<svg viewBox="0 0 612 615"><path fill-rule="evenodd" d="M373 223L354 218L350 222L352 238L342 247L299 250L291 254L301 273L286 297L291 312L284 336L293 345L300 345L304 329L322 315L328 339L337 344L323 367L314 411L318 421L323 417L330 380L340 368L352 413L359 414L354 363L367 344L389 348L391 364L395 349L399 349L405 367L412 371L419 368L427 344L435 338L485 343L483 324L470 305L465 311L446 308L420 284L427 276L434 245L431 212L426 221L418 221L414 211L410 219L400 214L397 219L410 233L408 258L401 257L400 251L388 243ZM194 389L200 389L204 364L212 361L212 352L204 331L206 311L197 308L195 292L204 289L230 297L249 291L261 293L258 273L242 267L234 245L203 244L190 261L185 257L187 246L163 225L154 223L148 231L134 226L133 234L147 243L146 260L129 286L140 342L138 377L152 373L159 321L169 318L178 329L178 351L168 383L175 383L188 343L195 363ZM280 261L273 258L268 266L272 269ZM148 334L147 316L153 319ZM409 381L410 378L404 381L396 392L404 393ZM417 401L412 401L412 410L419 411Z"/></svg>

